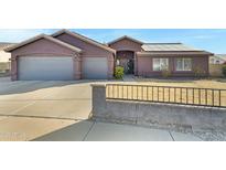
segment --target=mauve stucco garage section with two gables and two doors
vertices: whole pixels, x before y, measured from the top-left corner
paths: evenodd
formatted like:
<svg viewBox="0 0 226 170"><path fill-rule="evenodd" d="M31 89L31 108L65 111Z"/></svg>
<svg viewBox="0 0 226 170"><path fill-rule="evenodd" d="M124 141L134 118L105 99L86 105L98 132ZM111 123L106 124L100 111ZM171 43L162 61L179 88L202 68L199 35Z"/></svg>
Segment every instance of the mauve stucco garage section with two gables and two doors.
<svg viewBox="0 0 226 170"><path fill-rule="evenodd" d="M12 81L106 79L114 75L115 50L65 30L4 51L11 53Z"/></svg>

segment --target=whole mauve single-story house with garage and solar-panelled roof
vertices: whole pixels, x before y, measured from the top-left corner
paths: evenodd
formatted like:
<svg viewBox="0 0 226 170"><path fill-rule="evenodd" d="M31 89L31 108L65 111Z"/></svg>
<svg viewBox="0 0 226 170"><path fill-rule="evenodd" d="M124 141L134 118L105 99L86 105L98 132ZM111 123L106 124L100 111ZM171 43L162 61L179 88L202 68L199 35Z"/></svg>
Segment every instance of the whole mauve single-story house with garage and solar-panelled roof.
<svg viewBox="0 0 226 170"><path fill-rule="evenodd" d="M11 53L11 77L15 79L112 78L117 64L126 74L161 76L208 75L209 52L182 43L143 43L122 36L103 44L61 30L41 34L7 47Z"/></svg>

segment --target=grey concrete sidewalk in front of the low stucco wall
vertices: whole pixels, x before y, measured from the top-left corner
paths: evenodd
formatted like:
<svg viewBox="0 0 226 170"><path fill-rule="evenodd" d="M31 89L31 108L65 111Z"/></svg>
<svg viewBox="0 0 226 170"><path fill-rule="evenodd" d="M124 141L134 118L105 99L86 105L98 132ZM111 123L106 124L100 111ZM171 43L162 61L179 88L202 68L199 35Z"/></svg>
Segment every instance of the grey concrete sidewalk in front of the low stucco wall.
<svg viewBox="0 0 226 170"><path fill-rule="evenodd" d="M191 134L131 125L79 121L35 139L36 141L201 141Z"/></svg>

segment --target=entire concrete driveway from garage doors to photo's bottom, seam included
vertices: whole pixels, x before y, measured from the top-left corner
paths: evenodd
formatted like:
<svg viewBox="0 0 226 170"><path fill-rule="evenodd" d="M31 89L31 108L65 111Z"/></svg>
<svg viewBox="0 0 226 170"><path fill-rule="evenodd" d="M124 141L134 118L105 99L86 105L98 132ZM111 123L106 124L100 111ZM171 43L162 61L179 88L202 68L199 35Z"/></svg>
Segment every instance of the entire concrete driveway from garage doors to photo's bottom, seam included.
<svg viewBox="0 0 226 170"><path fill-rule="evenodd" d="M87 119L90 83L0 78L0 140L31 140Z"/></svg>

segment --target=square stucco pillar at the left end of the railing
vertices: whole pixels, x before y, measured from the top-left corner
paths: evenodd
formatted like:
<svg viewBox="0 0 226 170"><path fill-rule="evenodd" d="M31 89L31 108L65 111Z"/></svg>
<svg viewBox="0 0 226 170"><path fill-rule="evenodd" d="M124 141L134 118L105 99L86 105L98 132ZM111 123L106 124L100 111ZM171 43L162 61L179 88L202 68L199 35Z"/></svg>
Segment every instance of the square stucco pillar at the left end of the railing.
<svg viewBox="0 0 226 170"><path fill-rule="evenodd" d="M92 114L103 115L106 111L106 85L92 84Z"/></svg>

